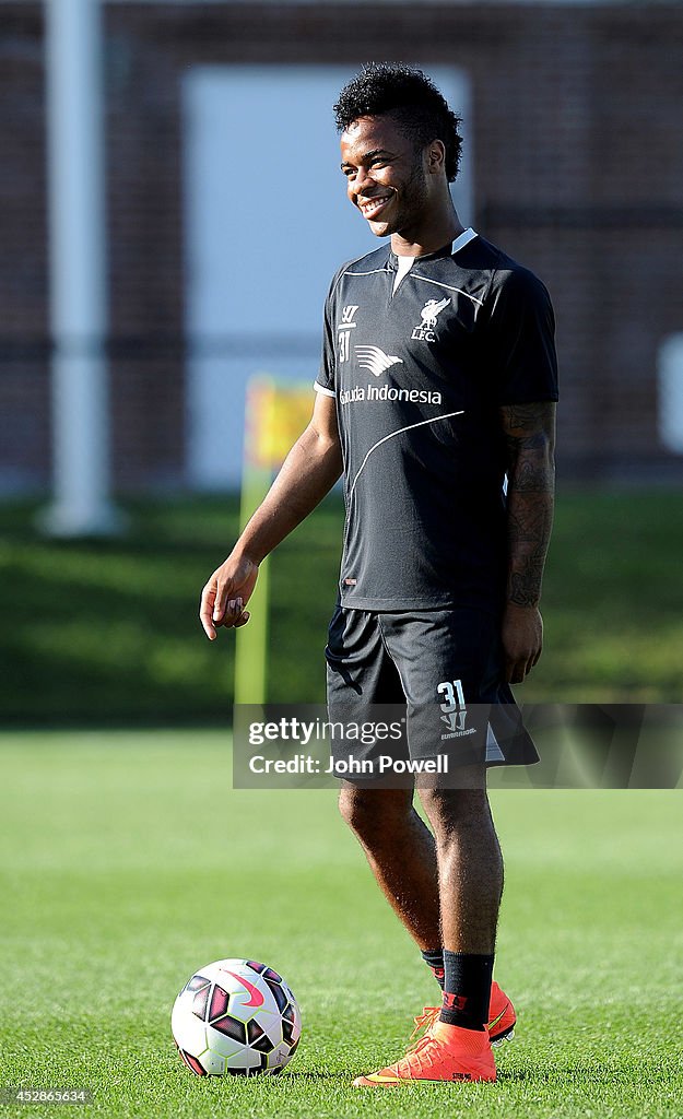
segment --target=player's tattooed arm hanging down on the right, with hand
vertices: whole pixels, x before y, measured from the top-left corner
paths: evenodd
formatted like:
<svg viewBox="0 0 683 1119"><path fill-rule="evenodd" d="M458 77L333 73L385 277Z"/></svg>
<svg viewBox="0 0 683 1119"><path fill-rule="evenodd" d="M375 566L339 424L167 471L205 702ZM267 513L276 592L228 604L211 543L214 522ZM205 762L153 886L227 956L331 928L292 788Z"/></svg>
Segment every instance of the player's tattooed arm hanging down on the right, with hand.
<svg viewBox="0 0 683 1119"><path fill-rule="evenodd" d="M503 615L506 678L521 684L541 656L539 611L554 500L554 404L500 408L507 444L507 601Z"/></svg>

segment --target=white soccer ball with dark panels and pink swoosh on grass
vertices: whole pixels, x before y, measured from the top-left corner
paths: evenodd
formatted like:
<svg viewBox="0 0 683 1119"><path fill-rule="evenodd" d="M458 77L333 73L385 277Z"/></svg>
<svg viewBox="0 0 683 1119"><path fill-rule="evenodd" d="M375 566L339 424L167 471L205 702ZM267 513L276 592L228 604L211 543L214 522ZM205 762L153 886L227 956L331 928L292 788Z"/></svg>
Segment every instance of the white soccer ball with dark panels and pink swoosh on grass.
<svg viewBox="0 0 683 1119"><path fill-rule="evenodd" d="M281 1072L301 1035L297 999L282 976L255 960L216 960L178 995L171 1031L198 1076Z"/></svg>

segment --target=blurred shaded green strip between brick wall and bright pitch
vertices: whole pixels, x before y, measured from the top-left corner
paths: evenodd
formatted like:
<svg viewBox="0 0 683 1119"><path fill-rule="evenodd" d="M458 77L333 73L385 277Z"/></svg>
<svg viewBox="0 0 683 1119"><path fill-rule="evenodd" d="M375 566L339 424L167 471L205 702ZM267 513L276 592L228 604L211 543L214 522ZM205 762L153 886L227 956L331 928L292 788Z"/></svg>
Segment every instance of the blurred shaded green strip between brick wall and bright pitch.
<svg viewBox="0 0 683 1119"><path fill-rule="evenodd" d="M203 583L236 535L234 497L125 505L116 540L55 542L35 505L0 507L0 709L7 723L224 723L232 633L209 645ZM326 502L272 561L269 697L319 702L342 504ZM546 649L525 699L683 699L683 517L677 492L558 502Z"/></svg>

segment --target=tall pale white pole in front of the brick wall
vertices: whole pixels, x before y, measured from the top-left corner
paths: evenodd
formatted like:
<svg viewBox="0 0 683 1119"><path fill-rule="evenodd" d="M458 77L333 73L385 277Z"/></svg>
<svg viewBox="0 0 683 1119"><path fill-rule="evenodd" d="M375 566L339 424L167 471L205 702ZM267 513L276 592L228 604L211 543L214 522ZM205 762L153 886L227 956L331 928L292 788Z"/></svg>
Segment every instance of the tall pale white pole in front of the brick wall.
<svg viewBox="0 0 683 1119"><path fill-rule="evenodd" d="M104 120L100 0L45 0L53 504L59 536L114 532L109 500Z"/></svg>

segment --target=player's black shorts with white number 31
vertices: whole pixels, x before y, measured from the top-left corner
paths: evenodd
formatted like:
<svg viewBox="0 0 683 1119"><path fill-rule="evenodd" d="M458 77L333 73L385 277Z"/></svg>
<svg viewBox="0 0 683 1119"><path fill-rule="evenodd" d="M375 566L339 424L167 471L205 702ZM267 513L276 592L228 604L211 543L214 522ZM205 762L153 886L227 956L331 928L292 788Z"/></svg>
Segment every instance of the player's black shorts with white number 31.
<svg viewBox="0 0 683 1119"><path fill-rule="evenodd" d="M443 756L451 774L462 765L539 761L503 680L499 622L493 614L465 608L390 613L337 606L325 656L333 725L395 725L402 717L406 732L373 736L371 730L354 741L340 730L331 739L338 777L391 779L410 773L409 763L414 774L422 772L417 763ZM349 770L350 758L366 764ZM396 764L386 762L380 770L381 758Z"/></svg>

